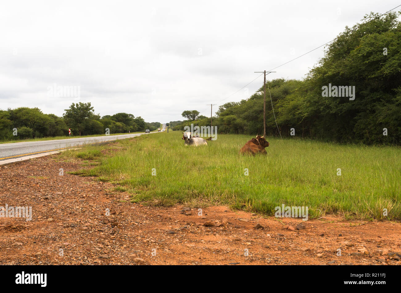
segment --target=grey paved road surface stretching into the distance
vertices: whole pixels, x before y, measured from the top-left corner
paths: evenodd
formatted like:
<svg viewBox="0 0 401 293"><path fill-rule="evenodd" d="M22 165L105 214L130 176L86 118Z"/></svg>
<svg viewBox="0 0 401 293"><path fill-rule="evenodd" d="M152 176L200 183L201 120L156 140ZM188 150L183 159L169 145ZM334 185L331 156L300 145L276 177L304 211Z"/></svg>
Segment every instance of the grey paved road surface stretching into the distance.
<svg viewBox="0 0 401 293"><path fill-rule="evenodd" d="M151 132L151 133L157 133ZM0 143L0 161L21 158L24 156L41 154L45 152L54 152L73 148L80 145L101 143L105 141L113 141L117 139L130 138L143 135L145 133L132 133L122 135L106 135L95 137L67 138L43 141L25 141L15 143ZM147 133L147 135L150 133Z"/></svg>

